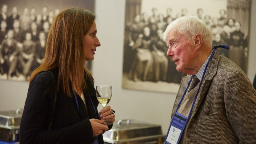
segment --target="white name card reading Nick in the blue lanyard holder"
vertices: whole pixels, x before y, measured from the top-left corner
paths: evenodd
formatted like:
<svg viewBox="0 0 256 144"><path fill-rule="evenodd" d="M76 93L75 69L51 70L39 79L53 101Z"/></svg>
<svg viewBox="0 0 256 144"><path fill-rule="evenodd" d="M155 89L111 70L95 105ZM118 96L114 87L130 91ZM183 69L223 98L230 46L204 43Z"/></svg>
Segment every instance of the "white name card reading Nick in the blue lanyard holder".
<svg viewBox="0 0 256 144"><path fill-rule="evenodd" d="M166 141L169 142L170 144L177 144L178 139L180 137L180 133L181 133L180 129L174 126L171 126L169 134L166 138Z"/></svg>

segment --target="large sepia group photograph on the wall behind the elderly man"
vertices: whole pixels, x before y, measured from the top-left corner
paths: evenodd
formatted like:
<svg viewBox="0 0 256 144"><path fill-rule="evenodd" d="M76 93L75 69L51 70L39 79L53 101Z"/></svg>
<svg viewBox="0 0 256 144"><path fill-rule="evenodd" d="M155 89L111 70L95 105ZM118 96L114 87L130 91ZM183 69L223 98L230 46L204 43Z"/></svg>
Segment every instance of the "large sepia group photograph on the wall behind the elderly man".
<svg viewBox="0 0 256 144"><path fill-rule="evenodd" d="M197 3L197 7L191 7ZM245 73L248 68L250 0L126 0L122 88L177 93L185 74L166 56L162 41L166 26L195 15L212 32L213 47Z"/></svg>

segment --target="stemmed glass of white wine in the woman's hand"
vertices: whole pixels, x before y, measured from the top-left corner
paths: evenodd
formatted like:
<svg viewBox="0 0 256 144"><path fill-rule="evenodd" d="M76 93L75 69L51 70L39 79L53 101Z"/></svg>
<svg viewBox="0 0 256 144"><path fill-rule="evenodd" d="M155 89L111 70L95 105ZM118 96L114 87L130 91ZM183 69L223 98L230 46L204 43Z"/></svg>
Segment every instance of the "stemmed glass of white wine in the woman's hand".
<svg viewBox="0 0 256 144"><path fill-rule="evenodd" d="M99 103L103 106L103 109L107 106L110 102L112 96L112 86L96 86L96 97ZM102 125L109 125L107 121Z"/></svg>

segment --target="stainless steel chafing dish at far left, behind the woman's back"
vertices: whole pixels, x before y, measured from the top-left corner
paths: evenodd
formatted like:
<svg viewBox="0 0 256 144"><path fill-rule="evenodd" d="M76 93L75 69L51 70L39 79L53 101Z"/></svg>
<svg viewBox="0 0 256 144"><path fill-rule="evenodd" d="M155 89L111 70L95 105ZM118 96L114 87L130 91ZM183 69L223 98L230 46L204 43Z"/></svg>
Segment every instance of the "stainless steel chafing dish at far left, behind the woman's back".
<svg viewBox="0 0 256 144"><path fill-rule="evenodd" d="M0 141L18 142L23 110L0 111Z"/></svg>

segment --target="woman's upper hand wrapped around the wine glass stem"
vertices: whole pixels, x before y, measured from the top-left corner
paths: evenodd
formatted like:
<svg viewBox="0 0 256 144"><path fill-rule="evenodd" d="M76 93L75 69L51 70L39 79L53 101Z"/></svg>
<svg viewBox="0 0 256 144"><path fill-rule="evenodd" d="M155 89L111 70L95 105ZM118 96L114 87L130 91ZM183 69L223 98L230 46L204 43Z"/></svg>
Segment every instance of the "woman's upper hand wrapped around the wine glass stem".
<svg viewBox="0 0 256 144"><path fill-rule="evenodd" d="M99 112L99 118L106 120L107 124L115 122L115 114L113 114L113 110L110 109L110 106L106 106Z"/></svg>

